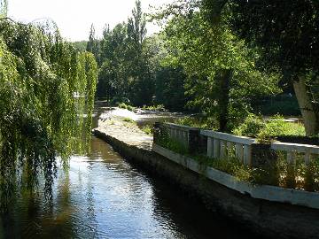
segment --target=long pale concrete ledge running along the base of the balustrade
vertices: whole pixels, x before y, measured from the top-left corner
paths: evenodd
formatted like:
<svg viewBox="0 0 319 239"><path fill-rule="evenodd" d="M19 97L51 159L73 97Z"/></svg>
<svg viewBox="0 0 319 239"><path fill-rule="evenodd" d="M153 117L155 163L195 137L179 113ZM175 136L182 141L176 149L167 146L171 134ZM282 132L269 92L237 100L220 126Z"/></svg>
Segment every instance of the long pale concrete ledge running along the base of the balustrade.
<svg viewBox="0 0 319 239"><path fill-rule="evenodd" d="M208 179L223 186L236 190L250 197L278 202L295 204L319 209L319 194L296 189L284 189L268 185L253 185L245 181L238 181L234 176L223 173L209 166L201 166L192 158L185 157L171 150L167 150L153 143L152 150L191 171L205 175Z"/></svg>

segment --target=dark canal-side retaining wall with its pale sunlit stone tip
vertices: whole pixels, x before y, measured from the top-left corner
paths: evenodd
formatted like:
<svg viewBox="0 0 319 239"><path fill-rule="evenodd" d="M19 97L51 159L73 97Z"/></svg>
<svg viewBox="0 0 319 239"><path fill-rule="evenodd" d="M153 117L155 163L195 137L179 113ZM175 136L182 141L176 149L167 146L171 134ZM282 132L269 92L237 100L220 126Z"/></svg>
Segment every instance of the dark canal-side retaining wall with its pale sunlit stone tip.
<svg viewBox="0 0 319 239"><path fill-rule="evenodd" d="M198 197L209 210L221 212L249 230L269 238L317 237L318 210L288 202L253 198L249 193L238 192L209 180L202 173L191 171L185 165L155 153L151 147L152 137L139 131L138 127L128 127L125 121L119 121L109 118L101 122L94 134L145 171Z"/></svg>

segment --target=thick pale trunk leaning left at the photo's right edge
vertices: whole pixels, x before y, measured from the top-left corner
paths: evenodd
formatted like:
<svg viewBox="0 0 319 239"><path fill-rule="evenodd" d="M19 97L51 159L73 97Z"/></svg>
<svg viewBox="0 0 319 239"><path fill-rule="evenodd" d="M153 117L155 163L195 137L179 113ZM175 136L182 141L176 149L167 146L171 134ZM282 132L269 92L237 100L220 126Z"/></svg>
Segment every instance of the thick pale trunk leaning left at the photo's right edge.
<svg viewBox="0 0 319 239"><path fill-rule="evenodd" d="M304 78L299 77L298 80L293 82L293 89L304 120L306 135L317 135L319 134L319 113L316 111L315 104L312 103L311 96L307 92Z"/></svg>

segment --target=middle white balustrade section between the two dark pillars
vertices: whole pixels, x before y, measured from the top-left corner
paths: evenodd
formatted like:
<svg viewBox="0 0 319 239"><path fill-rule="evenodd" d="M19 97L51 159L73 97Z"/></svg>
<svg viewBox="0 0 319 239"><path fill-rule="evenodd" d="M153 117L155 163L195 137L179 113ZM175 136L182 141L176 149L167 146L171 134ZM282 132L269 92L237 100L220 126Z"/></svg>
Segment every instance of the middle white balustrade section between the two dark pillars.
<svg viewBox="0 0 319 239"><path fill-rule="evenodd" d="M235 157L245 165L252 165L253 138L230 135L211 130L200 130L201 135L207 136L207 157L228 158L230 150L235 149Z"/></svg>

